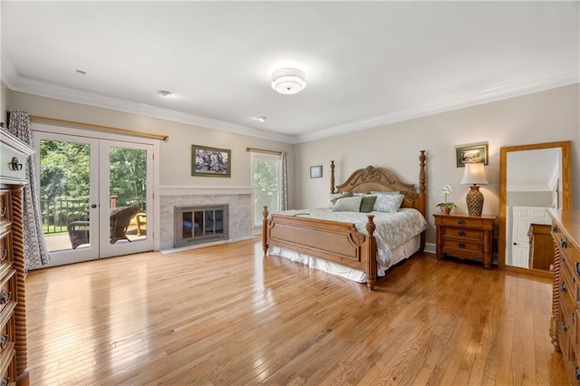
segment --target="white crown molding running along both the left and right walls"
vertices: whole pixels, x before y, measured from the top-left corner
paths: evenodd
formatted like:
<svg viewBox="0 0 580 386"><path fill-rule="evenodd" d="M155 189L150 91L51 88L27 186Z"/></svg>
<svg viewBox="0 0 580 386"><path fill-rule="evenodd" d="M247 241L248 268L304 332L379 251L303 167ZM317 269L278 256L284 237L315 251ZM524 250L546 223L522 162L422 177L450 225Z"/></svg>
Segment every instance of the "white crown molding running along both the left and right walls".
<svg viewBox="0 0 580 386"><path fill-rule="evenodd" d="M123 111L133 114L159 118L167 121L176 121L180 123L201 126L208 129L234 132L250 137L261 138L265 140L277 140L285 143L302 143L311 140L321 140L349 132L367 130L394 122L408 121L414 118L424 117L437 114L444 111L457 110L469 106L474 106L491 101L499 101L507 98L513 98L533 92L542 92L557 87L563 87L580 82L580 75L577 68L567 68L556 72L549 72L532 78L521 79L516 82L500 84L485 90L477 92L467 92L459 95L452 95L448 98L433 103L426 104L418 108L411 108L406 111L397 111L391 114L379 115L367 119L352 121L329 127L323 130L316 130L303 135L292 136L275 133L266 130L256 130L247 126L238 125L226 121L213 120L198 115L188 114L180 111L162 109L143 103L133 101L123 101L104 95L82 92L67 87L57 86L48 82L40 82L34 79L24 78L14 71L14 67L2 61L3 65L3 82L12 91L27 92L34 95L40 95L48 98L54 98L63 101L72 101L75 103L87 104L90 106L111 109L114 111Z"/></svg>

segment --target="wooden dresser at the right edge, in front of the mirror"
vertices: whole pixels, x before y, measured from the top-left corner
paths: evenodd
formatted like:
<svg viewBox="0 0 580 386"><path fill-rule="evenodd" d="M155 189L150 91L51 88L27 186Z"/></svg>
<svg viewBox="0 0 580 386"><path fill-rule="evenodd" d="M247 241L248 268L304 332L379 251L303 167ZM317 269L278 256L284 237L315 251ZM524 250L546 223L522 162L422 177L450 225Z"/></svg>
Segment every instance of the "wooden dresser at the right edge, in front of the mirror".
<svg viewBox="0 0 580 386"><path fill-rule="evenodd" d="M570 380L580 381L580 210L548 209L554 239L550 336Z"/></svg>

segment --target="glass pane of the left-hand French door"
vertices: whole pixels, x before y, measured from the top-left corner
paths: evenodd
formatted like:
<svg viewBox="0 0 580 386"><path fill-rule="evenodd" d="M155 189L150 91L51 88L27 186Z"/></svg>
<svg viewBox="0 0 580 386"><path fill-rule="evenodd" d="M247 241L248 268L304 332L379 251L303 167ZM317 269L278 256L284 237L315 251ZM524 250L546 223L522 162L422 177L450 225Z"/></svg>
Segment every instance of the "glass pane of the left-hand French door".
<svg viewBox="0 0 580 386"><path fill-rule="evenodd" d="M89 246L91 145L40 141L40 205L49 252Z"/></svg>

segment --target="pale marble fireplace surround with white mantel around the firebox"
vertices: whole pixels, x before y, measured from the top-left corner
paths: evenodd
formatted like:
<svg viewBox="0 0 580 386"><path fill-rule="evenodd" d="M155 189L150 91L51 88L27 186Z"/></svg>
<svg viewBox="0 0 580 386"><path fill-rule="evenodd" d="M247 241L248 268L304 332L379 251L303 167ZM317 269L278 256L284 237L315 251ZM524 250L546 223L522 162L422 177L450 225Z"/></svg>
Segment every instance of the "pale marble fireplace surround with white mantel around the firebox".
<svg viewBox="0 0 580 386"><path fill-rule="evenodd" d="M252 188L161 187L160 250L173 248L176 206L227 204L229 239L252 236Z"/></svg>

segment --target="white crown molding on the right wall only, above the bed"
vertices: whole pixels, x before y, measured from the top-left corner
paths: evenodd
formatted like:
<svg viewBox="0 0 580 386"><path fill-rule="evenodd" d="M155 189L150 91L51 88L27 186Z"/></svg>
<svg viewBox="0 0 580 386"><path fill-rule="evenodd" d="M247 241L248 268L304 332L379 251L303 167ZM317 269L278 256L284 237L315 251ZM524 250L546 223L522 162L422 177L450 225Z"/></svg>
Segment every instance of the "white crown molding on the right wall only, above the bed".
<svg viewBox="0 0 580 386"><path fill-rule="evenodd" d="M500 101L507 98L526 95L533 92L543 92L557 87L568 86L580 82L578 69L565 69L550 72L540 76L509 82L497 87L492 87L478 92L466 92L454 95L434 103L426 104L419 108L397 111L391 114L376 116L364 120L352 121L332 128L314 131L299 135L295 143L322 140L336 135L346 134L353 131L367 130L390 123L408 121L414 118L425 117L445 111L453 111L469 106Z"/></svg>

